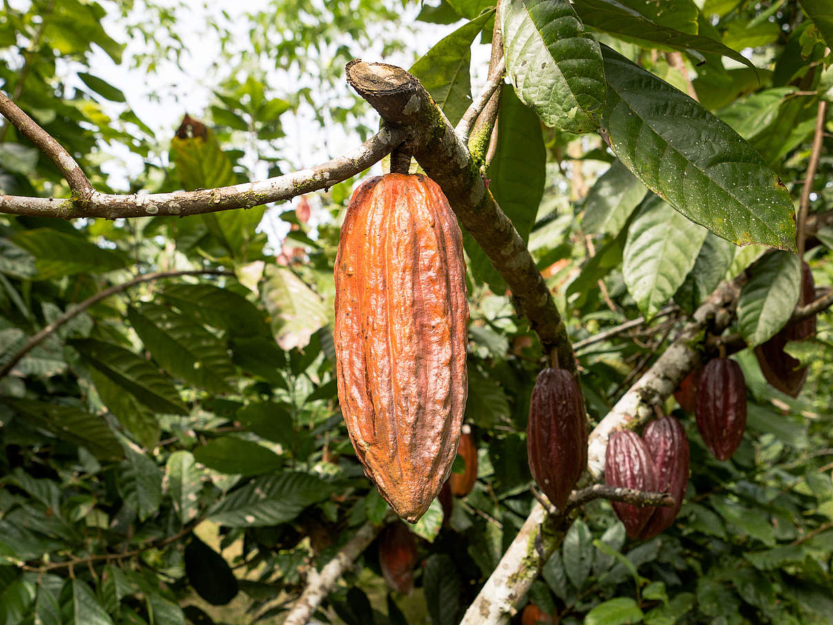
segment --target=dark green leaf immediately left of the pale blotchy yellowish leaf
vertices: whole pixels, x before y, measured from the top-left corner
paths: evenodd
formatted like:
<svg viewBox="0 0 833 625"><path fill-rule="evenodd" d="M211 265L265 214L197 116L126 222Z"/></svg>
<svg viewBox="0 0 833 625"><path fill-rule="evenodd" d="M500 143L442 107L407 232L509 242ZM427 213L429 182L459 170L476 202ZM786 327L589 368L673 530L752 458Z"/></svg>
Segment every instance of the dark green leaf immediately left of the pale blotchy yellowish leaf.
<svg viewBox="0 0 833 625"><path fill-rule="evenodd" d="M221 328L234 337L266 332L263 313L242 295L213 284L171 283L161 297L202 323Z"/></svg>

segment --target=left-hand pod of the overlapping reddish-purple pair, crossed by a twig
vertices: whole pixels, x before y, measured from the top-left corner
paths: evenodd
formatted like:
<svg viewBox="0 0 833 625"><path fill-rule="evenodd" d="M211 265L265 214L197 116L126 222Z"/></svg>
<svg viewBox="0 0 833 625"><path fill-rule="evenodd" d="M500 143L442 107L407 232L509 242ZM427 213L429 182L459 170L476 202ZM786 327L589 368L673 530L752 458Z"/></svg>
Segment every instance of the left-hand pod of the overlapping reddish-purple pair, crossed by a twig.
<svg viewBox="0 0 833 625"><path fill-rule="evenodd" d="M605 452L605 483L616 488L656 493L658 482L654 460L639 435L631 430L612 433ZM611 502L611 505L631 538L639 537L654 513L653 507L636 507L623 502Z"/></svg>

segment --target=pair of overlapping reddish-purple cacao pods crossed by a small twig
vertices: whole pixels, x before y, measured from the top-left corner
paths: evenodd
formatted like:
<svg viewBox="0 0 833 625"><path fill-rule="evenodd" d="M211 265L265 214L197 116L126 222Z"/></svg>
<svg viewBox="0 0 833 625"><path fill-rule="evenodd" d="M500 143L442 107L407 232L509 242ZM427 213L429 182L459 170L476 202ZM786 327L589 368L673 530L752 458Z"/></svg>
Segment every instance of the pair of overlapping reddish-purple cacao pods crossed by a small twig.
<svg viewBox="0 0 833 625"><path fill-rule="evenodd" d="M629 537L646 540L671 526L686 497L689 468L686 430L676 418L662 417L648 423L642 438L631 430L612 433L605 463L608 486L670 493L675 501L672 507L612 502Z"/></svg>

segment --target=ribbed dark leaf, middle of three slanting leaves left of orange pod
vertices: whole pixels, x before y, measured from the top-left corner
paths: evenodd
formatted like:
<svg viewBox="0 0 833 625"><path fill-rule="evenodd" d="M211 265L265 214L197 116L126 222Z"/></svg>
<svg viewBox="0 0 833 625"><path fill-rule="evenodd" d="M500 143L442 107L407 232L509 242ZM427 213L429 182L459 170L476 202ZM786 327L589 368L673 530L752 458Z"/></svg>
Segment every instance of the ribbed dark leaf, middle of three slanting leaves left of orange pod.
<svg viewBox="0 0 833 625"><path fill-rule="evenodd" d="M163 369L214 393L227 391L235 374L225 344L201 323L154 303L127 309L127 319Z"/></svg>

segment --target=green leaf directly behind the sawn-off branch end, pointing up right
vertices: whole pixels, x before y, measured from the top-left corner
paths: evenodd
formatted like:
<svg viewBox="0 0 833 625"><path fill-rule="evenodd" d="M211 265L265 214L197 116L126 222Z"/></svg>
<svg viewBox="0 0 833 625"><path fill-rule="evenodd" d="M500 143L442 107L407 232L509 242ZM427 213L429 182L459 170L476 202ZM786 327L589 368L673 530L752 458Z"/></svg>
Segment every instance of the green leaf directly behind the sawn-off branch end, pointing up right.
<svg viewBox="0 0 833 625"><path fill-rule="evenodd" d="M491 13L484 13L463 24L434 44L409 70L431 93L452 126L471 104L471 42L490 18Z"/></svg>

